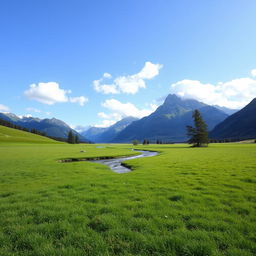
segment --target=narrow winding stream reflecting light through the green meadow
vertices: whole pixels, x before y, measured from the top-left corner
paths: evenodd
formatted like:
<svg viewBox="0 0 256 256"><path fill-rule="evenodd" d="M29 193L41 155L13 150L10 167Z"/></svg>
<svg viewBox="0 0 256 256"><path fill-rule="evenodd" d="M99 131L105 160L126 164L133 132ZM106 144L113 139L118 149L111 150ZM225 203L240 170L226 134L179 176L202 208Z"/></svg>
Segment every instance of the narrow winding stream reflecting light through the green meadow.
<svg viewBox="0 0 256 256"><path fill-rule="evenodd" d="M151 157L159 154L158 152L146 151L146 150L136 150L136 151L140 152L141 154L136 156L127 156L127 157L120 157L120 158L113 158L113 159L93 160L90 162L107 165L113 172L116 172L116 173L126 173L126 172L130 172L131 169L122 165L123 161L131 160L135 158L141 158L141 157Z"/></svg>

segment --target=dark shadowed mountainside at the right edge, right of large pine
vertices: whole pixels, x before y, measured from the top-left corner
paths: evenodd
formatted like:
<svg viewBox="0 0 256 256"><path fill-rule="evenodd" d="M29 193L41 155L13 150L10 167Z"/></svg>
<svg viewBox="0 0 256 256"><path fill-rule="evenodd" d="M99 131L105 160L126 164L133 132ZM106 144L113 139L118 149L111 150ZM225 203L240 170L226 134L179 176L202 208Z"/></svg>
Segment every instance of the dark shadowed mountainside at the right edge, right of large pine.
<svg viewBox="0 0 256 256"><path fill-rule="evenodd" d="M229 116L211 132L213 139L256 138L256 98L240 111Z"/></svg>

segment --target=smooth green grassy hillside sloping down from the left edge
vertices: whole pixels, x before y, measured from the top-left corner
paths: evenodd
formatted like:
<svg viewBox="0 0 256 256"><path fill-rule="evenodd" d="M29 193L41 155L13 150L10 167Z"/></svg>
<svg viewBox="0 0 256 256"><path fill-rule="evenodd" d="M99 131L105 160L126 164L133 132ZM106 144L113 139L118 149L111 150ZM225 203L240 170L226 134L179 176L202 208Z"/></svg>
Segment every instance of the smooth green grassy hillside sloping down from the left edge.
<svg viewBox="0 0 256 256"><path fill-rule="evenodd" d="M0 125L0 142L60 143L44 136Z"/></svg>

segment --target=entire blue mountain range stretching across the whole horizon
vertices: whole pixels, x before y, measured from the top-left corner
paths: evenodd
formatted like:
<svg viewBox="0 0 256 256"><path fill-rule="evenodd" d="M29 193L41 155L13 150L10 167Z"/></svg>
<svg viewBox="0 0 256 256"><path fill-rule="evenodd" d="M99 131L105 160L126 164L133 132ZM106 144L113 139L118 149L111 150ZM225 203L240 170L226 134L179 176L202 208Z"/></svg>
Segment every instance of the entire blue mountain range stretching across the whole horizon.
<svg viewBox="0 0 256 256"><path fill-rule="evenodd" d="M147 139L151 142L187 141L186 126L193 125L192 113L198 109L208 125L212 139L256 138L256 98L246 107L234 110L210 106L193 99L182 99L169 94L164 103L149 116L142 119L125 117L106 128L91 127L79 134L65 122L56 118L39 119L18 117L12 113L0 113L0 119L28 129L36 129L48 136L67 138L68 132L77 134L80 141L96 143L130 143L133 140ZM228 113L233 113L229 115Z"/></svg>

